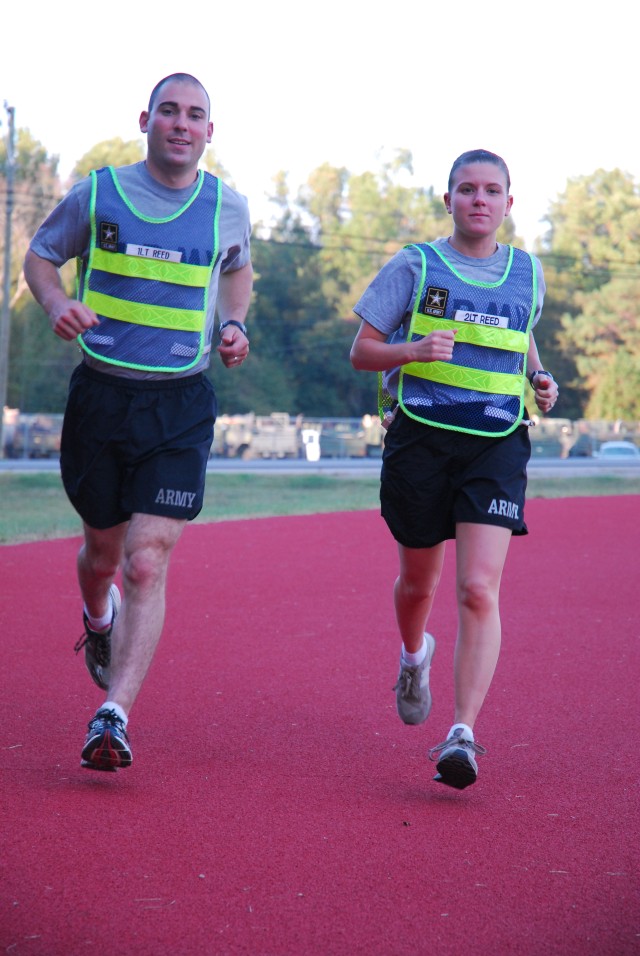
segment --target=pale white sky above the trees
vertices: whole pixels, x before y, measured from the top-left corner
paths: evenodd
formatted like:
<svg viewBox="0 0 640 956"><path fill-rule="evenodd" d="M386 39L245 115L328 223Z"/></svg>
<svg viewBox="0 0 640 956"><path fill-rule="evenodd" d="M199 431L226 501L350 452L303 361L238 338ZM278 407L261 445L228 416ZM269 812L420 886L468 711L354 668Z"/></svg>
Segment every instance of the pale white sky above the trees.
<svg viewBox="0 0 640 956"><path fill-rule="evenodd" d="M96 143L141 139L155 83L192 73L254 221L281 170L295 191L322 163L376 171L409 149L409 184L442 194L456 156L485 148L509 166L531 248L570 179L618 168L640 181L639 28L626 0L12 3L0 136L7 104L65 178Z"/></svg>

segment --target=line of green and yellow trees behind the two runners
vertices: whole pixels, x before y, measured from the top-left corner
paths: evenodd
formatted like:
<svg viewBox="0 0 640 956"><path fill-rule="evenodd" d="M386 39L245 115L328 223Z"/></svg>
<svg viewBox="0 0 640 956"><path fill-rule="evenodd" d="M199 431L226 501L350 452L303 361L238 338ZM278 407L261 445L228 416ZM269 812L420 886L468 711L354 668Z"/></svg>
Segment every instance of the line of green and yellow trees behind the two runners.
<svg viewBox="0 0 640 956"><path fill-rule="evenodd" d="M77 163L71 181L90 169L136 162L143 155L141 142L99 143ZM0 252L6 162L6 145L0 143ZM233 185L212 149L204 165ZM323 164L295 194L285 172L274 176L273 216L254 224L252 239L251 361L228 374L214 359L210 370L220 412L283 410L322 417L375 412L375 376L357 373L349 363L358 324L353 305L403 245L449 231L442 197L412 180L408 150L358 175ZM23 412L62 411L69 374L80 357L74 346L51 334L21 274L30 237L67 185L58 176L57 158L28 130L19 130L7 401ZM530 251L541 258L547 284L536 340L561 383L554 414L639 420L638 184L619 169L569 180L550 204L546 221L546 234ZM516 226L510 217L498 238L524 247ZM71 290L72 264L63 277Z"/></svg>

